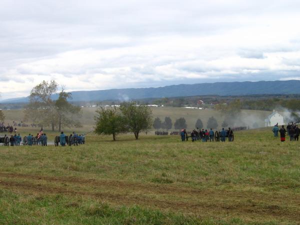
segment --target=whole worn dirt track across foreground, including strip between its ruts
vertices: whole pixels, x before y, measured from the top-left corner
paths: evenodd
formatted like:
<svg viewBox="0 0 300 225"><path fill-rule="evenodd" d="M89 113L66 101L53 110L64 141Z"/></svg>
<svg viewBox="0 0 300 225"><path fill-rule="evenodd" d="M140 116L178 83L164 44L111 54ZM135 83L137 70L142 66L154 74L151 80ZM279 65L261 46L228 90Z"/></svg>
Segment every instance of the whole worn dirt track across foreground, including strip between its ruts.
<svg viewBox="0 0 300 225"><path fill-rule="evenodd" d="M170 209L186 213L212 214L221 216L224 214L247 215L248 218L259 218L261 216L272 218L288 218L292 221L300 221L300 214L297 213L300 201L288 198L283 195L254 194L249 192L234 192L220 190L199 190L192 188L182 188L167 186L164 184L142 184L116 180L96 180L79 177L54 177L40 176L20 173L0 172L0 186L12 190L22 190L28 193L42 194L65 194L65 195L85 195L97 197L101 200L115 204L132 205L138 204L159 209ZM17 180L26 178L27 180ZM33 183L41 180L43 183ZM46 182L46 183L44 183ZM79 184L82 190L69 189L65 186L53 186L54 182ZM93 190L84 190L85 186L101 186ZM117 189L135 190L140 194L124 194L117 192ZM94 191L98 189L116 190L113 193ZM148 194L148 195L147 195ZM159 197L153 197L153 194ZM165 199L165 195L174 196ZM186 199L186 196L189 196ZM290 196L292 197L292 196ZM245 199L250 199L246 201ZM276 202L280 202L280 206ZM263 203L263 204L262 204ZM287 206L292 206L293 210Z"/></svg>

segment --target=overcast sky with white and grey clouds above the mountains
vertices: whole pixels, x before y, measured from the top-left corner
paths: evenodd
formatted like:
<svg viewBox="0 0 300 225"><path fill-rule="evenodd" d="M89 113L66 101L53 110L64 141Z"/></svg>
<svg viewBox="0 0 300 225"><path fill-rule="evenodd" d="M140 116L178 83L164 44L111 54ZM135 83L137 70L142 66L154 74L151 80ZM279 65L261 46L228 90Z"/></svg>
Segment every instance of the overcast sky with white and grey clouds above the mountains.
<svg viewBox="0 0 300 225"><path fill-rule="evenodd" d="M300 79L298 0L0 0L1 99Z"/></svg>

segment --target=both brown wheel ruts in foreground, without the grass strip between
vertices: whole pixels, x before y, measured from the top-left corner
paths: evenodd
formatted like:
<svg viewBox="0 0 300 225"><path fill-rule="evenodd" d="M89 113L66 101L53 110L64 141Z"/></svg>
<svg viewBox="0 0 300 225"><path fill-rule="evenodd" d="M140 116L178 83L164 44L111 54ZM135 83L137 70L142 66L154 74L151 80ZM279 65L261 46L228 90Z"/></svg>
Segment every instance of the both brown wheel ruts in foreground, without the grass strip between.
<svg viewBox="0 0 300 225"><path fill-rule="evenodd" d="M265 195L256 195L253 196L253 193L246 192L229 192L229 191L217 191L217 190L194 190L181 187L170 187L165 185L153 185L153 184L141 184L141 183L130 183L124 181L115 181L115 180L95 180L95 179L85 179L78 177L54 177L54 176L40 176L40 175L28 175L21 173L4 173L0 172L0 177L5 177L9 179L14 178L27 178L31 180L43 180L49 182L69 182L81 185L99 185L105 186L106 188L124 188L124 189L134 189L139 192L149 192L152 191L158 194L173 194L178 198L174 200L168 199L152 199L145 195L132 195L132 194L121 194L121 193L106 193L106 192L94 192L94 191L79 191L79 190L70 190L66 187L52 187L47 184L34 184L28 182L23 182L21 180L0 180L0 186L7 189L21 189L23 191L29 192L38 192L38 193L49 193L49 194L70 194L70 195L84 195L97 197L101 200L107 200L109 202L131 205L131 204L140 204L144 206L157 207L159 209L171 209L171 210L180 210L183 212L211 212L214 211L217 214L222 213L238 213L238 214L251 214L251 216L259 217L262 215L265 216L274 216L274 217L288 217L293 218L293 220L300 221L300 214L294 213L293 211L288 210L287 208L281 208L277 205L272 204L274 199L278 200L279 196L265 196ZM191 194L197 199L207 199L204 202L189 201L185 202L180 200L180 195L182 193ZM255 203L242 204L240 199L259 199L259 201L264 201L267 205L261 206ZM211 200L215 199L215 201ZM222 203L224 199L231 199L231 204ZM293 206L299 207L299 201L286 199L286 196L280 196L280 201L286 202L285 205L292 203ZM192 203L196 202L196 203Z"/></svg>

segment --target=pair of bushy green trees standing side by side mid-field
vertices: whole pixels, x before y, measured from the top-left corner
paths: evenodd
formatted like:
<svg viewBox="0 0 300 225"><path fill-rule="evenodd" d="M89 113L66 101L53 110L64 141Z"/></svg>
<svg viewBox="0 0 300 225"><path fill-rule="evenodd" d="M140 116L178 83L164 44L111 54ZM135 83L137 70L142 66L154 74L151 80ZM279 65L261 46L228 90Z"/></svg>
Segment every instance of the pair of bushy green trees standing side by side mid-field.
<svg viewBox="0 0 300 225"><path fill-rule="evenodd" d="M138 139L141 131L152 125L152 111L145 104L135 101L122 102L120 107L101 107L96 110L95 133L112 135L113 140L118 133L133 132Z"/></svg>

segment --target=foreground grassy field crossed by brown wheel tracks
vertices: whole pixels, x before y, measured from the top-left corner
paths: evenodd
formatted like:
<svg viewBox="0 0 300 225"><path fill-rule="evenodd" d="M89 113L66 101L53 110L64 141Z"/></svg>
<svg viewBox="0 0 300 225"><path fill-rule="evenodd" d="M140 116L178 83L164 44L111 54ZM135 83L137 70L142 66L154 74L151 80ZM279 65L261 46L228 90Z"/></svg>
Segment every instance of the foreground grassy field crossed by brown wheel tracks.
<svg viewBox="0 0 300 225"><path fill-rule="evenodd" d="M0 146L0 224L300 223L299 142L264 128L224 143L117 139Z"/></svg>

